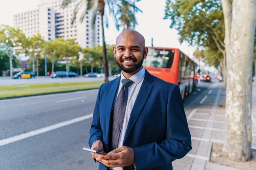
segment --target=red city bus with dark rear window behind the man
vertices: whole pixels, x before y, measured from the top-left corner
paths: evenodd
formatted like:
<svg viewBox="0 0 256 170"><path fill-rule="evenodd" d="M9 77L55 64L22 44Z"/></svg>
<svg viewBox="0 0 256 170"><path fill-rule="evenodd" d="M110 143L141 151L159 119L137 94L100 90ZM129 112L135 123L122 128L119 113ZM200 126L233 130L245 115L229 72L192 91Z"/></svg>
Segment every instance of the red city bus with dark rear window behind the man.
<svg viewBox="0 0 256 170"><path fill-rule="evenodd" d="M148 47L143 66L150 74L179 85L183 100L197 86L196 63L177 48Z"/></svg>

